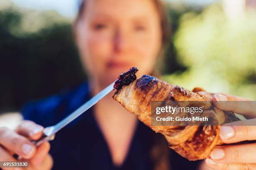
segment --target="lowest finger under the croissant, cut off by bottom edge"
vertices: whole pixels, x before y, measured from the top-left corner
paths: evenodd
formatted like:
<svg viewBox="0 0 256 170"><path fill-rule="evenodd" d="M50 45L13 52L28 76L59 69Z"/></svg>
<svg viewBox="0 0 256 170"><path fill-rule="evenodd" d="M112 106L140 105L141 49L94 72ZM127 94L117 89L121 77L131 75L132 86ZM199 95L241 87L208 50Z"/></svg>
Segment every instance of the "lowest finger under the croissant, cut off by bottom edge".
<svg viewBox="0 0 256 170"><path fill-rule="evenodd" d="M256 164L222 164L210 158L205 159L205 164L213 170L256 170Z"/></svg>

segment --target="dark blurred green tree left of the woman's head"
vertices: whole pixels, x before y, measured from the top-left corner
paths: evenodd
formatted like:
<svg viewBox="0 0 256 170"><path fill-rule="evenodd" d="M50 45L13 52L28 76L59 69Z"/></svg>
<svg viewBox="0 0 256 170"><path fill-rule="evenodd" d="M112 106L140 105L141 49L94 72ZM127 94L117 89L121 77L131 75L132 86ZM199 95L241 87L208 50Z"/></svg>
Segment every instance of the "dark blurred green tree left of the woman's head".
<svg viewBox="0 0 256 170"><path fill-rule="evenodd" d="M74 87L86 78L71 22L58 23L54 19L60 15L51 13L45 27L26 32L23 15L14 8L0 11L0 112L17 110L28 99Z"/></svg>

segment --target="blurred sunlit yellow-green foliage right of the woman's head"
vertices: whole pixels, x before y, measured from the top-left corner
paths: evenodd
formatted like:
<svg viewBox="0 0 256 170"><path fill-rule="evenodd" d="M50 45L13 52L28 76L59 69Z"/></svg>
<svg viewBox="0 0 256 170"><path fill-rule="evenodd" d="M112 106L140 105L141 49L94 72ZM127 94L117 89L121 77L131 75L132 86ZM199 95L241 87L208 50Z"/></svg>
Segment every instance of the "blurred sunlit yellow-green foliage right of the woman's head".
<svg viewBox="0 0 256 170"><path fill-rule="evenodd" d="M256 100L256 12L229 20L221 5L182 15L174 45L188 69L165 80Z"/></svg>

